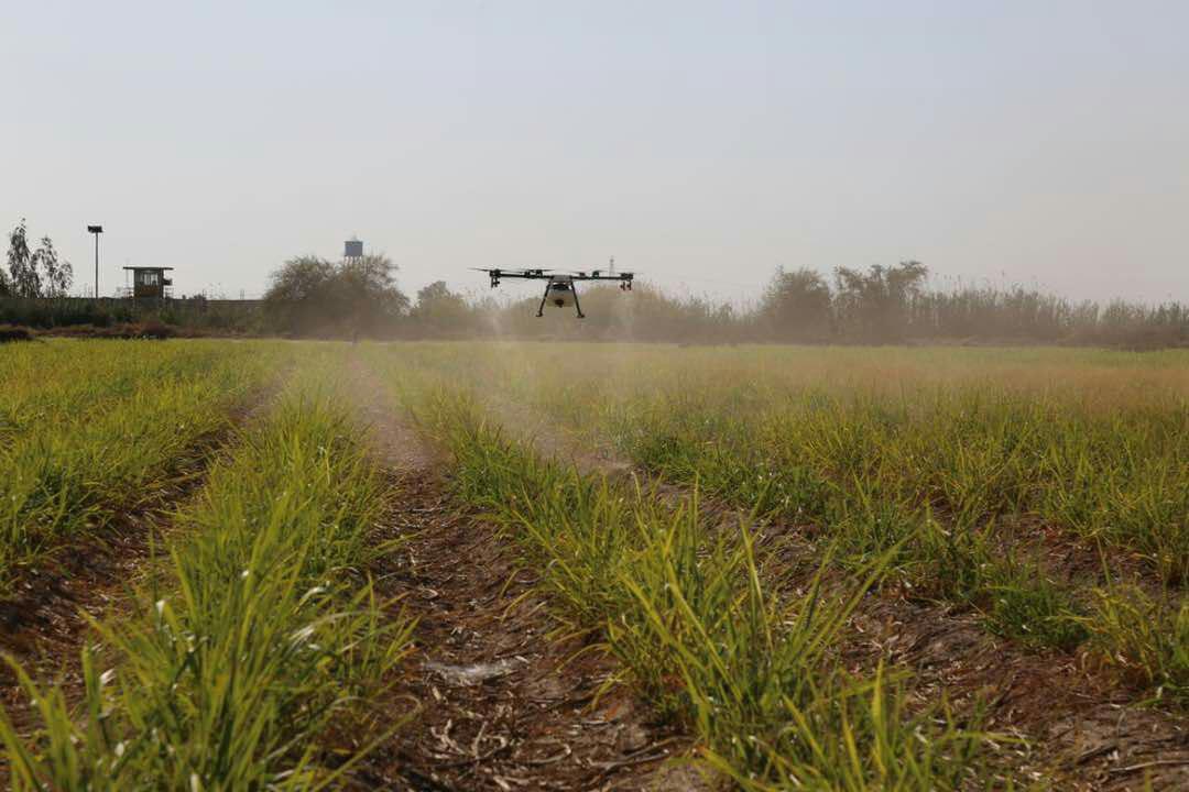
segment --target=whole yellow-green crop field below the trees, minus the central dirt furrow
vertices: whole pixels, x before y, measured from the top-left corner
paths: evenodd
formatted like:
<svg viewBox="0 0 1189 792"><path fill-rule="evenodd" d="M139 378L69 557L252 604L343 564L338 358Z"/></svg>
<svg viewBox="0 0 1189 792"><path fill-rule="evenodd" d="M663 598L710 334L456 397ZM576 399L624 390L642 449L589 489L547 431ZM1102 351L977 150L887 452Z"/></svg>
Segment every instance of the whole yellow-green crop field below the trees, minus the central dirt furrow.
<svg viewBox="0 0 1189 792"><path fill-rule="evenodd" d="M1189 353L93 341L0 373L2 579L169 524L81 683L13 683L27 788L360 784L416 733L385 691L435 647L369 570L424 509L361 405L435 449L551 640L611 658L596 704L630 691L719 785L1184 779ZM1058 728L1120 707L1131 764Z"/></svg>

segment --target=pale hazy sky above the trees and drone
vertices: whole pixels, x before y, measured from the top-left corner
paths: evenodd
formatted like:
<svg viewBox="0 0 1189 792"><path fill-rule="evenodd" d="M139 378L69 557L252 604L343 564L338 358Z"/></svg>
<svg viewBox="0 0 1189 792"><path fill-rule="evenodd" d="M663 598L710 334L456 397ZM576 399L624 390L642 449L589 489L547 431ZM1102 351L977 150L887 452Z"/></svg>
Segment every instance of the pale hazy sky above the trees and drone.
<svg viewBox="0 0 1189 792"><path fill-rule="evenodd" d="M132 262L256 294L357 234L410 293L614 254L736 299L908 258L1187 299L1187 31L1185 0L4 0L0 224L89 289L102 223L105 293Z"/></svg>

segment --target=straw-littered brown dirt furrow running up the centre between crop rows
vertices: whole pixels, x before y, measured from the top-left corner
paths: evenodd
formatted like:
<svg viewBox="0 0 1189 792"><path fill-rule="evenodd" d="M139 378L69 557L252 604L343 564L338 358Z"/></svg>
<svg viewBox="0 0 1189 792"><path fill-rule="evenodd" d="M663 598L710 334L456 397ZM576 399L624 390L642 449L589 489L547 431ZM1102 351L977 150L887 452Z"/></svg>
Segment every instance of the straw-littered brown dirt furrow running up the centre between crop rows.
<svg viewBox="0 0 1189 792"><path fill-rule="evenodd" d="M384 388L358 361L358 394ZM447 499L440 461L382 398L359 405L397 479L394 528L409 538L386 585L417 619L417 652L394 695L413 717L358 773L391 790L686 790L666 766L688 741L655 723L598 652L547 635L546 602L515 547ZM416 707L413 705L416 702ZM396 715L396 712L394 712Z"/></svg>

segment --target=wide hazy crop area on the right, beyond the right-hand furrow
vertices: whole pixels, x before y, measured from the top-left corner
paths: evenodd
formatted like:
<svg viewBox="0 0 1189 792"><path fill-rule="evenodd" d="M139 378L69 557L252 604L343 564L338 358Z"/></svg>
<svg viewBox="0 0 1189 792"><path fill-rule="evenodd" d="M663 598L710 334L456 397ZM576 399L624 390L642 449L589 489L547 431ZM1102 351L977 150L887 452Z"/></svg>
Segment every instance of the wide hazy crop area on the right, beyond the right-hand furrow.
<svg viewBox="0 0 1189 792"><path fill-rule="evenodd" d="M1184 357L492 344L408 368L539 445L627 458L844 566L891 553L914 596L1189 701ZM1077 541L1089 574L1052 563Z"/></svg>

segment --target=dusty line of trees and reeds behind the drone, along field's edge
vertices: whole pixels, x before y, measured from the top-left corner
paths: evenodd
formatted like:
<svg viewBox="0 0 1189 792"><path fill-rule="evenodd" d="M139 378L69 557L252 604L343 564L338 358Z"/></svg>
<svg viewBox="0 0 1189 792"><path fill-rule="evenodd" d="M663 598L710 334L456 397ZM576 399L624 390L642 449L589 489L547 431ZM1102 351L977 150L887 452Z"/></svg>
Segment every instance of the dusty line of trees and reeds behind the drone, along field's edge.
<svg viewBox="0 0 1189 792"><path fill-rule="evenodd" d="M587 318L542 321L540 298L470 299L445 281L414 299L396 285L385 256L331 262L298 256L272 273L264 304L281 332L379 337L628 340L659 342L904 343L974 341L1163 347L1189 344L1189 305L1072 302L1021 286L930 286L919 261L776 270L759 302L740 309L673 297L637 283L581 293ZM568 317L567 317L568 318Z"/></svg>

